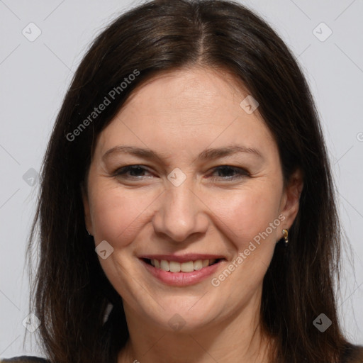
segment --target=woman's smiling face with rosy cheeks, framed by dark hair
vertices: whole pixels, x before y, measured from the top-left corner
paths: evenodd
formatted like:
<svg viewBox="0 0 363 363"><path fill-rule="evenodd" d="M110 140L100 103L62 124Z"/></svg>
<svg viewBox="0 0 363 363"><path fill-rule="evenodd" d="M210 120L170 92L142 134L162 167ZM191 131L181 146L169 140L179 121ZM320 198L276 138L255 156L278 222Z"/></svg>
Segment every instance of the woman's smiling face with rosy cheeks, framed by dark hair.
<svg viewBox="0 0 363 363"><path fill-rule="evenodd" d="M170 330L258 311L301 179L284 187L277 144L258 108L240 106L246 96L224 72L164 73L99 135L86 227L106 241L99 261L127 316Z"/></svg>

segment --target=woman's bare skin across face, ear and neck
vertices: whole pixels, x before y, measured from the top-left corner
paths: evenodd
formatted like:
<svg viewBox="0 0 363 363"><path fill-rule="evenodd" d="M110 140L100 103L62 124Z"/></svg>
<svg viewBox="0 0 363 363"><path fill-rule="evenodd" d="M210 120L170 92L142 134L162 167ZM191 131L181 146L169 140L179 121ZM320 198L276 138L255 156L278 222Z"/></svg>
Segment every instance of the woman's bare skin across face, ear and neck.
<svg viewBox="0 0 363 363"><path fill-rule="evenodd" d="M273 340L259 328L262 280L282 229L296 217L303 182L296 171L284 187L277 144L258 108L248 114L240 106L247 95L222 70L164 72L138 87L99 135L83 199L95 244L106 240L113 247L99 261L123 298L130 332L118 363L268 362ZM119 145L149 148L162 160L122 153L103 158ZM207 148L230 145L253 147L261 157L239 152L197 159ZM146 170L115 175L127 165ZM216 169L223 165L248 174ZM167 179L175 168L186 176L179 186ZM281 224L212 286L211 278L274 220ZM212 277L180 287L152 277L137 257L189 252L226 260ZM175 313L185 322L178 331L168 323Z"/></svg>

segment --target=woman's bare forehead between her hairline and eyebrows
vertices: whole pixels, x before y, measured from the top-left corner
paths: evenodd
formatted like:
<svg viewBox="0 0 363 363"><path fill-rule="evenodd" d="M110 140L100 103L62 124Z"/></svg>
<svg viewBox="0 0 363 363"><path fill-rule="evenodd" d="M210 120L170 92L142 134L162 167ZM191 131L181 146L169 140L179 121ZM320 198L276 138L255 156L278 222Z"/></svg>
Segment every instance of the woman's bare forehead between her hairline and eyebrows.
<svg viewBox="0 0 363 363"><path fill-rule="evenodd" d="M248 95L227 72L198 67L159 74L133 91L102 131L96 149L132 144L192 154L208 145L242 143L276 151L258 108L247 113L240 106Z"/></svg>

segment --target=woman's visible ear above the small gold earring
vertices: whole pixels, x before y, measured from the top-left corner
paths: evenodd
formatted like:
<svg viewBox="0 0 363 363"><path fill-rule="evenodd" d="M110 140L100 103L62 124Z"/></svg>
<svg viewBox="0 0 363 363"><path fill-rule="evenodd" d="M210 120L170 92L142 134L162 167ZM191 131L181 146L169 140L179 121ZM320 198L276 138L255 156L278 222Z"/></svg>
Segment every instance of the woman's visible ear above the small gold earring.
<svg viewBox="0 0 363 363"><path fill-rule="evenodd" d="M283 228L290 228L294 223L300 206L302 190L303 173L300 169L296 169L285 186L284 194L281 199L280 213L285 216Z"/></svg>

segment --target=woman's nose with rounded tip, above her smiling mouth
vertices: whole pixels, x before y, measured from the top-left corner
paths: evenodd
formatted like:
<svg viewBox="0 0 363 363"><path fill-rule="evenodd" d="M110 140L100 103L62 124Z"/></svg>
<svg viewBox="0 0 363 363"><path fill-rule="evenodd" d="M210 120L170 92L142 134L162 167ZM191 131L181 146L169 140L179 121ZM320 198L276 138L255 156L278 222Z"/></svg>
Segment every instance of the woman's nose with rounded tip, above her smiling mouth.
<svg viewBox="0 0 363 363"><path fill-rule="evenodd" d="M190 184L170 185L160 196L160 205L152 218L156 233L167 235L173 242L184 242L196 233L206 233L208 215L203 203Z"/></svg>

